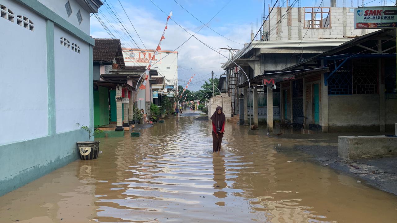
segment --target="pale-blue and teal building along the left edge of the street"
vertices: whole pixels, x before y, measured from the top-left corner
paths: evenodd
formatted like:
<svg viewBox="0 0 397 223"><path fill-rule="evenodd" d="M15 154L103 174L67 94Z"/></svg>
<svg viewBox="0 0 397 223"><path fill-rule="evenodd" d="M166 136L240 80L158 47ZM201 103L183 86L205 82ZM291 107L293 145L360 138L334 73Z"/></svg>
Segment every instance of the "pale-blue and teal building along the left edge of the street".
<svg viewBox="0 0 397 223"><path fill-rule="evenodd" d="M101 5L0 0L0 195L76 160L88 140L75 123L94 127L90 13Z"/></svg>

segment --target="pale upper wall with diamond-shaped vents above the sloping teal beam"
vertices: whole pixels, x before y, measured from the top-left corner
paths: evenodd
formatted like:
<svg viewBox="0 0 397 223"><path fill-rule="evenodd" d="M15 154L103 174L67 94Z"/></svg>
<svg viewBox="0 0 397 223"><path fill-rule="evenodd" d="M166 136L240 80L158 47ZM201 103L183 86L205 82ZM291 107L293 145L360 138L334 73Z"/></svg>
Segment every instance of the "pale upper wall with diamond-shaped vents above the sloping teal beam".
<svg viewBox="0 0 397 223"><path fill-rule="evenodd" d="M74 25L75 27L81 29L84 33L90 35L90 13L85 11L79 3L75 0L69 0L70 7L72 9L71 15L68 17L65 4L67 0L38 0L44 6L47 6L50 10L58 14L60 17L64 18L66 21ZM62 3L62 4L60 4ZM79 24L77 19L77 12L81 13L83 21Z"/></svg>

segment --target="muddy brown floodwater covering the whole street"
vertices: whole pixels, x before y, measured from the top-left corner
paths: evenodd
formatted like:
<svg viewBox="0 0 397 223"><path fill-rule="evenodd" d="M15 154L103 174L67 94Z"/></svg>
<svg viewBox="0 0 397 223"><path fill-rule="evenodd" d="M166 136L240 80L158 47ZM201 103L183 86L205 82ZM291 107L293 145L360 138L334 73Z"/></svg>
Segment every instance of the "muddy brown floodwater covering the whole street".
<svg viewBox="0 0 397 223"><path fill-rule="evenodd" d="M227 124L222 152L212 154L210 123L195 117L139 138L101 138L97 160L0 197L0 223L397 222L396 196L275 150L292 140Z"/></svg>

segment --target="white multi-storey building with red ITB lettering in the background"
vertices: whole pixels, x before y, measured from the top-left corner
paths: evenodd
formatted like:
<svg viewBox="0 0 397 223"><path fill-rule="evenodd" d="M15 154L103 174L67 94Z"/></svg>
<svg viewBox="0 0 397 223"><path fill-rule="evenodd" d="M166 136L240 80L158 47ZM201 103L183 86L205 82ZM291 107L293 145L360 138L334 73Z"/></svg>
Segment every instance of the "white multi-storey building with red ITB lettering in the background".
<svg viewBox="0 0 397 223"><path fill-rule="evenodd" d="M124 62L126 66L147 66L154 50L123 48ZM160 76L164 76L165 85L178 86L178 52L171 50L159 50L154 57L151 69L157 70Z"/></svg>

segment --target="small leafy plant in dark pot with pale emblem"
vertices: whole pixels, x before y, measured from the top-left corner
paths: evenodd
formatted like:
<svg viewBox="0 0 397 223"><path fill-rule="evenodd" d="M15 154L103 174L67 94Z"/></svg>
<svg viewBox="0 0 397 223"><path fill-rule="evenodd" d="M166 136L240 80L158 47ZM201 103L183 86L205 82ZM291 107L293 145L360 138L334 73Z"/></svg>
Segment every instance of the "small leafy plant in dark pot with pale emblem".
<svg viewBox="0 0 397 223"><path fill-rule="evenodd" d="M88 132L88 141L81 141L77 142L77 150L79 151L80 154L80 159L81 160L94 160L98 158L99 154L99 141L90 141L91 137L94 136L95 134L101 133L102 130L95 129L94 132L88 127L84 125L80 125L79 123L76 123L78 127L81 129L84 129L85 131Z"/></svg>

